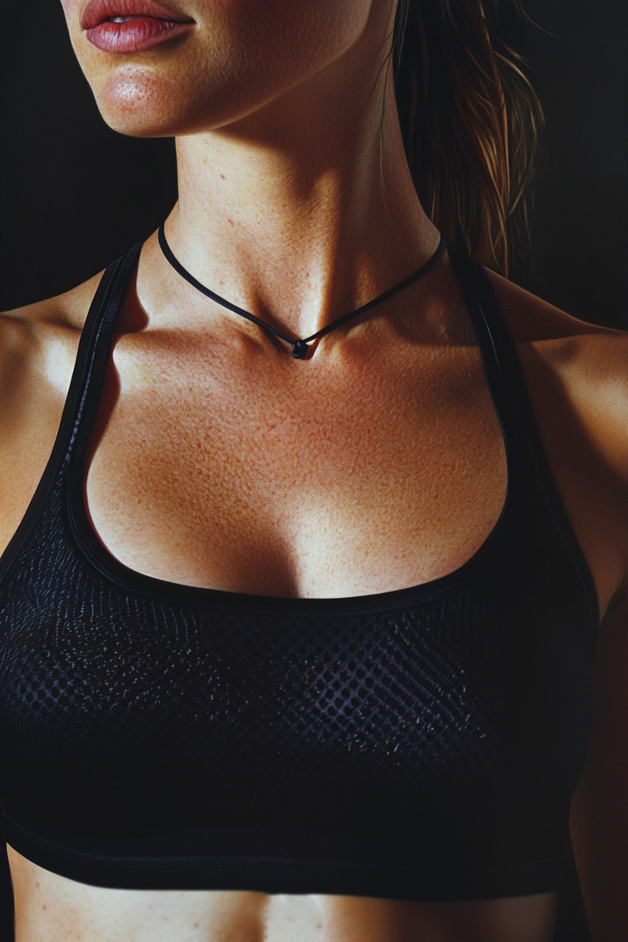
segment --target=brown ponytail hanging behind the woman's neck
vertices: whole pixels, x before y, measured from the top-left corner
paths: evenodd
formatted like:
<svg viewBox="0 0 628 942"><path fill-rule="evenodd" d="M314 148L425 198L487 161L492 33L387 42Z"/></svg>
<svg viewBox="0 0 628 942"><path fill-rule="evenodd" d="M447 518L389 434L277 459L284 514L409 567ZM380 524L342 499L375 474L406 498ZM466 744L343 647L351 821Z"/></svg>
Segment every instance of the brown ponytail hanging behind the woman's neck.
<svg viewBox="0 0 628 942"><path fill-rule="evenodd" d="M487 15L490 3L398 0L391 53L402 137L427 215L452 246L507 276L511 236L529 240L543 112L526 60Z"/></svg>

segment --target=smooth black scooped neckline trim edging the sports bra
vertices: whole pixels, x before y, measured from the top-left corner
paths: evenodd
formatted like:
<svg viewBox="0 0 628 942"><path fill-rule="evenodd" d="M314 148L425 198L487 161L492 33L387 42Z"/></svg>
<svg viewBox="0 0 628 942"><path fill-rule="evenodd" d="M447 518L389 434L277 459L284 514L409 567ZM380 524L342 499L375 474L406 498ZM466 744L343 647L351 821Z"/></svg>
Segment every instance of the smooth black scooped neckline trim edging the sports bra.
<svg viewBox="0 0 628 942"><path fill-rule="evenodd" d="M485 382L488 384L493 409L499 421L507 468L507 487L502 509L489 534L471 557L456 569L445 573L441 577L429 579L427 582L404 586L383 593L329 597L260 595L230 592L207 586L188 585L150 576L127 566L121 560L117 560L101 543L89 522L85 493L85 464L89 433L105 381L105 366L110 354L115 322L121 311L132 273L137 267L140 250L141 243L138 243L123 259L119 259L121 266L118 272L109 272L109 269L107 269L103 276L104 286L108 288L108 290L105 290L105 298L99 298L97 292L90 306L86 327L88 320L93 323L96 327L96 337L93 343L91 364L89 365L89 376L85 384L84 400L72 436L71 447L66 456L68 463L66 507L72 536L80 552L101 575L126 590L154 598L181 600L201 605L211 604L213 607L220 606L240 610L266 609L291 611L295 614L326 614L338 611L366 612L396 609L400 606L407 606L412 602L431 599L441 593L449 593L467 584L477 570L487 560L491 559L507 530L507 523L512 516L513 508L518 503L517 498L522 487L523 456L521 448L518 447L517 436L513 428L513 421L516 420L512 410L508 408L512 399L507 395L505 387L504 365L500 363L497 354L500 338L495 335L494 321L495 316L502 318L501 312L497 310L493 313L493 317L490 318L492 320L491 324L486 312L488 299L484 299L484 303L481 302L478 297L478 285L470 284L469 274L462 268L464 260L458 253L452 252L451 248L447 247L447 256L454 268L459 290L480 350ZM483 269L477 263L472 264L475 268L475 274L480 275L481 272L481 277L488 283L488 278ZM109 273L108 278L106 277L107 273ZM493 302L493 307L495 305L496 302ZM95 317L104 308L105 316ZM503 333L505 329L505 325L503 325L500 333Z"/></svg>

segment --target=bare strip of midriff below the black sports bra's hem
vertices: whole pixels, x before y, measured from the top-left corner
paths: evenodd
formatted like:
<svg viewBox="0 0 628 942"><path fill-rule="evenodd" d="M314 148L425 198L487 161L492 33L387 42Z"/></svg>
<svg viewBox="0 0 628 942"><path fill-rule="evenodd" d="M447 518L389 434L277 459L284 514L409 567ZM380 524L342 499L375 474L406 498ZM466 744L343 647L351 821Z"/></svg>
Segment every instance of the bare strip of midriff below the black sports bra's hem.
<svg viewBox="0 0 628 942"><path fill-rule="evenodd" d="M15 942L552 942L556 893L410 902L237 890L110 889L8 847Z"/></svg>

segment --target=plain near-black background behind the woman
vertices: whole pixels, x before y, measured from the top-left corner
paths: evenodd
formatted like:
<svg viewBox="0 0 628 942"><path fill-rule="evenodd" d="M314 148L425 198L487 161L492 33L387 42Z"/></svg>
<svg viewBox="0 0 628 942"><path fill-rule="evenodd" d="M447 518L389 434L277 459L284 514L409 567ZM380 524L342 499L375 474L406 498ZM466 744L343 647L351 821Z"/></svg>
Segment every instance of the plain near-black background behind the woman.
<svg viewBox="0 0 628 942"><path fill-rule="evenodd" d="M628 327L626 5L502 0L499 22L530 60L544 107L532 254L517 284L575 317ZM0 309L85 281L145 238L176 200L170 139L125 138L100 118L58 0L3 7ZM43 787L43 784L42 784ZM4 920L4 921L3 921ZM0 850L0 939L12 934ZM556 942L590 936L575 870Z"/></svg>

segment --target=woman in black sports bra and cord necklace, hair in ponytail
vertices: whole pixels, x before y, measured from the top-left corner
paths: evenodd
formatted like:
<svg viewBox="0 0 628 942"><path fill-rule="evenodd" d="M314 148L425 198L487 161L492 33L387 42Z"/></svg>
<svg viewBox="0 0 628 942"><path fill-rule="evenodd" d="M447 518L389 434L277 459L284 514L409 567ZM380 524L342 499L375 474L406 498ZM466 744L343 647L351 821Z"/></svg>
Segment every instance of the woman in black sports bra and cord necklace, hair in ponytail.
<svg viewBox="0 0 628 942"><path fill-rule="evenodd" d="M549 942L570 826L619 937L626 336L505 277L483 4L62 4L179 200L2 317L19 942Z"/></svg>

